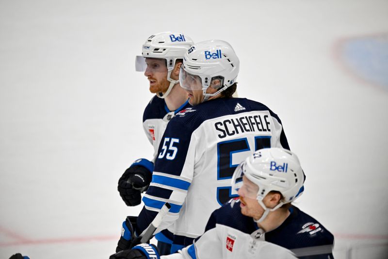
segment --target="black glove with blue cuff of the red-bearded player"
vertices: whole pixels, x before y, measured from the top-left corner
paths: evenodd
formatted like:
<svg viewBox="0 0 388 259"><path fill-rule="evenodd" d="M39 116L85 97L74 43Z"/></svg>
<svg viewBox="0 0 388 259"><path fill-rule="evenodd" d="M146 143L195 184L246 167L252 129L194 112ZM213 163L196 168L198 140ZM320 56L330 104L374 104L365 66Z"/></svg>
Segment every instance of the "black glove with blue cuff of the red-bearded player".
<svg viewBox="0 0 388 259"><path fill-rule="evenodd" d="M151 163L150 161L148 162ZM152 172L148 168L136 163L124 172L118 180L117 190L120 192L120 196L127 206L140 204L142 199L141 193L147 190L151 179Z"/></svg>

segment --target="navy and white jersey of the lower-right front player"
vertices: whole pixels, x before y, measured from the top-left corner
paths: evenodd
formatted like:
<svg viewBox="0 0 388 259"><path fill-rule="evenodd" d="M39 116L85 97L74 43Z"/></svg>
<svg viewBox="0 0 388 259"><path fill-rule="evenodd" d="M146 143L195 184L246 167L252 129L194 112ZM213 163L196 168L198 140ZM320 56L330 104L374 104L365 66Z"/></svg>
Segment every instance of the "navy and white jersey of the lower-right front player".
<svg viewBox="0 0 388 259"><path fill-rule="evenodd" d="M332 259L333 235L316 219L291 206L290 216L264 233L251 217L241 213L240 201L215 210L206 232L178 254L162 259ZM292 252L292 253L291 253Z"/></svg>

